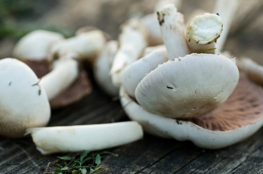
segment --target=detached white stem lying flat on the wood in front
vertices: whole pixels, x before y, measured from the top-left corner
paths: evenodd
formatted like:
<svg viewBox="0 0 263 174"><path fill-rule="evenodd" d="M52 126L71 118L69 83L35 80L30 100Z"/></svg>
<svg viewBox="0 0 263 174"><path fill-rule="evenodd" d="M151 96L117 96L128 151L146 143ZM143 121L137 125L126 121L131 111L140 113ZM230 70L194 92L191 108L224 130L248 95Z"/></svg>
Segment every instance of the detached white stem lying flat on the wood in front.
<svg viewBox="0 0 263 174"><path fill-rule="evenodd" d="M41 154L96 151L128 144L143 137L135 121L27 129Z"/></svg>

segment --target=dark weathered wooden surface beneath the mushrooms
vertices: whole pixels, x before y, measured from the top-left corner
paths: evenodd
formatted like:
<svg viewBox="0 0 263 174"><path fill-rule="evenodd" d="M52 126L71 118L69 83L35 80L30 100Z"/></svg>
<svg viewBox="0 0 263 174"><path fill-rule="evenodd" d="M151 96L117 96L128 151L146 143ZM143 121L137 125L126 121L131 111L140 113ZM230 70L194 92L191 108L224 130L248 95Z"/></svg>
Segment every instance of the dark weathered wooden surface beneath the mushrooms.
<svg viewBox="0 0 263 174"><path fill-rule="evenodd" d="M119 102L99 89L80 102L53 111L49 126L124 121ZM263 129L248 140L221 150L204 150L191 142L148 134L140 141L110 149L101 174L262 174ZM41 174L56 155L42 156L30 138L0 138L0 174ZM60 154L61 156L61 154Z"/></svg>

